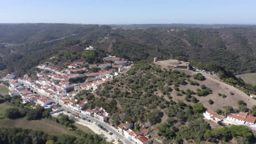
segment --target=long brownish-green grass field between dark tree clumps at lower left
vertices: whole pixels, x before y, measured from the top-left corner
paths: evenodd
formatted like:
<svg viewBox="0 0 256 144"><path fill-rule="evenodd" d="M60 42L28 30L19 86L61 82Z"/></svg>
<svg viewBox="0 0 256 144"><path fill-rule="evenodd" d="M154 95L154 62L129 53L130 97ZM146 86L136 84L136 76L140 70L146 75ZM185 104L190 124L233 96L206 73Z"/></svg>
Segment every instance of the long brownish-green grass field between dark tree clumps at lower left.
<svg viewBox="0 0 256 144"><path fill-rule="evenodd" d="M50 121L49 119L27 121L26 119L21 118L21 119L0 121L0 127L15 127L15 128L26 128L26 129L33 129L33 130L42 130L50 135L66 134L66 135L77 136L76 134L72 133L72 131L67 130L67 128L65 128L61 124Z"/></svg>

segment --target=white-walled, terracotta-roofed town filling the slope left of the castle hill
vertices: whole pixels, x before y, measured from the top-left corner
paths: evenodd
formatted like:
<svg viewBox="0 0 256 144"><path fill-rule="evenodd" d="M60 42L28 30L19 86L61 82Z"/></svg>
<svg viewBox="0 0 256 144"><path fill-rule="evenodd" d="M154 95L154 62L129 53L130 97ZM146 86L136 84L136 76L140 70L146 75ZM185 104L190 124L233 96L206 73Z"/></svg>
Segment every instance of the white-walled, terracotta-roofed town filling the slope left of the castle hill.
<svg viewBox="0 0 256 144"><path fill-rule="evenodd" d="M90 46L85 50L95 49ZM81 92L95 91L102 83L112 80L113 76L129 70L132 62L115 56L103 57L102 61L104 63L75 61L67 65L66 69L51 66L46 62L36 67L36 79L27 75L16 78L14 74L7 74L5 79L10 81L9 95L20 95L23 104L33 103L43 106L44 109L51 109L52 115L65 110L80 118L88 116L106 123L110 118L106 110L102 107L87 109L88 101L80 101L75 99L75 96ZM125 126L127 124L120 124L116 129L121 136L136 143L152 143L147 129L133 131L133 124L129 124L129 127Z"/></svg>

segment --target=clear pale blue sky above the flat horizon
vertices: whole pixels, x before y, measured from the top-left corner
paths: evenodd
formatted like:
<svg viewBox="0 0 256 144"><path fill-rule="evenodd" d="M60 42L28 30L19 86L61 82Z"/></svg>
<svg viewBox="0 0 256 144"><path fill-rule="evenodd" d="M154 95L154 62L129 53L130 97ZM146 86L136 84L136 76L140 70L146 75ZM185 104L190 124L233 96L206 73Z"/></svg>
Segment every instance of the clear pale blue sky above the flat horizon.
<svg viewBox="0 0 256 144"><path fill-rule="evenodd" d="M256 24L255 0L0 0L0 23Z"/></svg>

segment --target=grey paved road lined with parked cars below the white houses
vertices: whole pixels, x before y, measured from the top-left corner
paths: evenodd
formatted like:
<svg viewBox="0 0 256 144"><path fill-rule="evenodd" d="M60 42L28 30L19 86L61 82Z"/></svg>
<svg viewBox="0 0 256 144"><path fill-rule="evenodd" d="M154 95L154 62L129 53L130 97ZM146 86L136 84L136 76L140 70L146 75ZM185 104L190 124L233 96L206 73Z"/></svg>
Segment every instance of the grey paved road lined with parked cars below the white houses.
<svg viewBox="0 0 256 144"><path fill-rule="evenodd" d="M64 110L69 111L69 112L77 113L76 111L73 111L73 110L71 110L71 109L68 109L68 107L62 106L62 108L63 108ZM94 121L94 122L97 122L98 124L101 124L102 127L106 128L107 130L111 131L114 135L118 136L118 137L120 138L120 140L123 141L124 143L132 144L132 141L130 141L130 140L127 139L125 136L123 136L123 135L121 135L120 133L118 133L117 129L115 129L114 127L112 127L112 126L110 126L110 125L108 125L108 124L106 124L106 123L103 123L103 122L99 121L99 120L96 119L96 118L83 115L82 113L79 113L79 116L88 117L88 119L90 119L91 121Z"/></svg>

